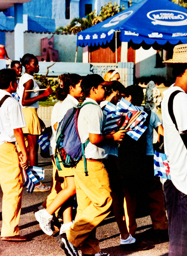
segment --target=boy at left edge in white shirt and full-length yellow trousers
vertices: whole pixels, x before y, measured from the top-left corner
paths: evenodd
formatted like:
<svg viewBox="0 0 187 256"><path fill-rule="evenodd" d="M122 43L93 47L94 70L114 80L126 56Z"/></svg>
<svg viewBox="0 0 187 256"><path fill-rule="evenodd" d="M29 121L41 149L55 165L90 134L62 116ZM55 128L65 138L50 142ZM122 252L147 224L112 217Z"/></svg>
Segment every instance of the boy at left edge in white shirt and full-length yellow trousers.
<svg viewBox="0 0 187 256"><path fill-rule="evenodd" d="M22 168L28 166L22 132L26 124L19 102L11 95L16 90L16 72L12 69L0 70L0 184L3 192L1 240L26 241L26 237L19 235L18 228L23 189ZM16 141L22 151L22 163L19 163Z"/></svg>

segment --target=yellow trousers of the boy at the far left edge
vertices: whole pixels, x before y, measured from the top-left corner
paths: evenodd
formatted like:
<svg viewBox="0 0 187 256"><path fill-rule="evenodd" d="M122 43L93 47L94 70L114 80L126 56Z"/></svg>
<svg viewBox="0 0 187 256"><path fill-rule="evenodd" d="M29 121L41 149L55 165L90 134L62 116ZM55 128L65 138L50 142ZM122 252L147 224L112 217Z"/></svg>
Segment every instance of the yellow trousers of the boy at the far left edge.
<svg viewBox="0 0 187 256"><path fill-rule="evenodd" d="M0 145L0 184L2 196L1 237L19 235L23 179L16 146Z"/></svg>

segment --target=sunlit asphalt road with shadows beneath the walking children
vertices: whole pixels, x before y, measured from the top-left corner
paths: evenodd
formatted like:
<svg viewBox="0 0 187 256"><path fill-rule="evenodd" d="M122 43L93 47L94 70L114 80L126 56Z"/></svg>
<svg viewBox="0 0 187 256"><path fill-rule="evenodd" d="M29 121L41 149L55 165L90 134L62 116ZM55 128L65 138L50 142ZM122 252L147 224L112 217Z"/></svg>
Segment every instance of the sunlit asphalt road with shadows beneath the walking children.
<svg viewBox="0 0 187 256"><path fill-rule="evenodd" d="M44 183L50 184L52 176L52 165L50 158L41 158L39 156L39 166L45 169ZM35 219L33 211L45 200L48 192L33 192L28 194L26 187L23 188L22 211L20 218L20 234L27 235L29 242L7 242L0 240L0 255L2 256L29 256L29 255L65 255L64 251L58 245L55 236L48 236L40 229ZM0 188L0 229L2 226L2 190ZM146 241L151 249L147 251L135 252L125 251L120 247L119 229L114 216L111 214L97 228L97 237L100 241L100 247L104 252L111 256L122 255L143 255L143 256L166 256L168 255L169 242L166 238L155 236L152 232L151 218L145 216L137 218L137 237ZM81 255L81 253L80 253Z"/></svg>

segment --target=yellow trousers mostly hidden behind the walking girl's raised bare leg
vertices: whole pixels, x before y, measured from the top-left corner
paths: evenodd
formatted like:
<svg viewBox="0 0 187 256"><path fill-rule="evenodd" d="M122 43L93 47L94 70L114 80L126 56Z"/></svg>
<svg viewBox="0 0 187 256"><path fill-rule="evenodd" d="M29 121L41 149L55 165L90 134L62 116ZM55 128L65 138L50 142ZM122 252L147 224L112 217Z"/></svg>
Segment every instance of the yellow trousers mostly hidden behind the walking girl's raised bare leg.
<svg viewBox="0 0 187 256"><path fill-rule="evenodd" d="M64 182L62 183L63 177L59 177L54 156L51 155L51 158L52 158L52 164L53 164L53 176L51 180L49 195L46 197L46 200L42 203L42 206L45 208L47 208L50 205L50 203L53 201L56 195L65 187ZM60 208L58 208L55 211L56 217L58 216L59 210Z"/></svg>

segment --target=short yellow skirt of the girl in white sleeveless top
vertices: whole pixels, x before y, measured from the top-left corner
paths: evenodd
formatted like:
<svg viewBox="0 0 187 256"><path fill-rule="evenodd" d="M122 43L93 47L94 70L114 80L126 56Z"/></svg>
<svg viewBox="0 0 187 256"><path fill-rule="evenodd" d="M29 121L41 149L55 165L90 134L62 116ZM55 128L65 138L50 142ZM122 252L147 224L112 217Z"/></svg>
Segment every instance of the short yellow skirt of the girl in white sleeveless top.
<svg viewBox="0 0 187 256"><path fill-rule="evenodd" d="M23 127L24 134L40 135L42 128L37 115L37 108L22 108L26 122L26 127Z"/></svg>

